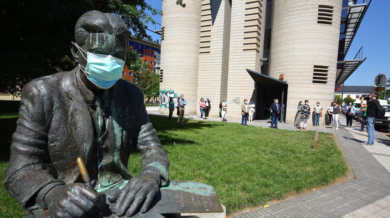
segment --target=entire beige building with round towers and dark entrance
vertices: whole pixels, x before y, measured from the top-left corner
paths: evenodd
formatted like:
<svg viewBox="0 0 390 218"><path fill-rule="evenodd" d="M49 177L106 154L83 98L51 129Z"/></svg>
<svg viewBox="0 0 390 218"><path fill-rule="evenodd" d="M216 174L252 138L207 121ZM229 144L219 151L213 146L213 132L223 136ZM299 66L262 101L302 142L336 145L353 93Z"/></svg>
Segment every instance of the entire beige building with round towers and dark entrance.
<svg viewBox="0 0 390 218"><path fill-rule="evenodd" d="M299 101L307 99L312 108L317 101L329 105L335 83L363 62L356 59L351 66L344 58L368 5L191 0L182 8L176 0L163 0L160 98L184 94L186 114L200 115L199 99L209 97L210 117L218 117L226 97L227 117L234 119L241 118L243 100L251 98L255 119L269 119L268 108L278 98L280 119L291 124ZM160 102L160 112L168 113Z"/></svg>

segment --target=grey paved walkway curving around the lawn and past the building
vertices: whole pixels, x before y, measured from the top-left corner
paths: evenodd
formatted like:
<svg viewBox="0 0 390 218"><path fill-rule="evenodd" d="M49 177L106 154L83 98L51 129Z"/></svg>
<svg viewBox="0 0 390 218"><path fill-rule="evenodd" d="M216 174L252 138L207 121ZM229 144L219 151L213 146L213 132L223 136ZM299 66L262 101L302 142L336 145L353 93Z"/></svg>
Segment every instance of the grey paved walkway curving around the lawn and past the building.
<svg viewBox="0 0 390 218"><path fill-rule="evenodd" d="M157 110L148 110L148 113L161 115ZM185 115L184 119L200 120L195 115ZM209 118L204 121L221 121L221 119ZM228 119L228 122L241 123L241 120ZM264 128L270 126L268 121L254 121L249 125ZM366 129L360 132L360 123L355 121L352 128L346 128L345 125L345 116L341 115L339 129L332 129L330 126L308 126L307 129L337 135L355 179L236 217L390 218L390 147L386 146L390 145L390 138L376 132L374 145L361 145L361 142L367 141ZM284 123L278 123L278 128L302 131Z"/></svg>

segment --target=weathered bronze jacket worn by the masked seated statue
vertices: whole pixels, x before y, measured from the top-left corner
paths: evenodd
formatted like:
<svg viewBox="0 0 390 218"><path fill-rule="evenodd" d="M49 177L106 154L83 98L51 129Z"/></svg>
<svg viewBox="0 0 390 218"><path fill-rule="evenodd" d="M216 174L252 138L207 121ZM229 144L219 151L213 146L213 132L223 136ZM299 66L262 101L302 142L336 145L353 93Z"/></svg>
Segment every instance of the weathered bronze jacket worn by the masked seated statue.
<svg viewBox="0 0 390 218"><path fill-rule="evenodd" d="M24 209L40 207L40 190L60 183L82 182L76 159L94 165L96 138L88 105L76 81L77 67L32 80L22 89L19 119L12 135L4 186ZM142 171L155 172L168 183L169 161L149 122L142 90L118 80L113 85L107 125L110 153L117 174L127 170L131 151L141 154ZM81 180L81 181L80 181Z"/></svg>

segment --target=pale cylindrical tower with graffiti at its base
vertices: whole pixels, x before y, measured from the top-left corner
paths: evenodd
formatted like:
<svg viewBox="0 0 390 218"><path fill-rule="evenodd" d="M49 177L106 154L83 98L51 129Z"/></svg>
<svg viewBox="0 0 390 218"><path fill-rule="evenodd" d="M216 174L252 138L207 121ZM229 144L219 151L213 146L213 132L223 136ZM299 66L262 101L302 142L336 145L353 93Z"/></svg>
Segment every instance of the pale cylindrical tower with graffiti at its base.
<svg viewBox="0 0 390 218"><path fill-rule="evenodd" d="M161 24L160 109L168 113L169 97L184 94L185 113L196 113L202 0L164 0ZM173 94L174 92L174 94ZM174 98L175 105L177 98Z"/></svg>

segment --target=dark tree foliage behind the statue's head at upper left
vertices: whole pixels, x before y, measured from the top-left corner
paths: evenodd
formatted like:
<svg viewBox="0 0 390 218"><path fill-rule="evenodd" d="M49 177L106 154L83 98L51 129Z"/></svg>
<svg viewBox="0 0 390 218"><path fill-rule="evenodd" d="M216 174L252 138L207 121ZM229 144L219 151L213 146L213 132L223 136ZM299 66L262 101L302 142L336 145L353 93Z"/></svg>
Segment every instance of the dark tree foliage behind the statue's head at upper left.
<svg viewBox="0 0 390 218"><path fill-rule="evenodd" d="M144 0L2 0L0 92L18 94L34 78L73 69L74 25L90 10L119 15L140 38L148 37L152 16L162 15Z"/></svg>

